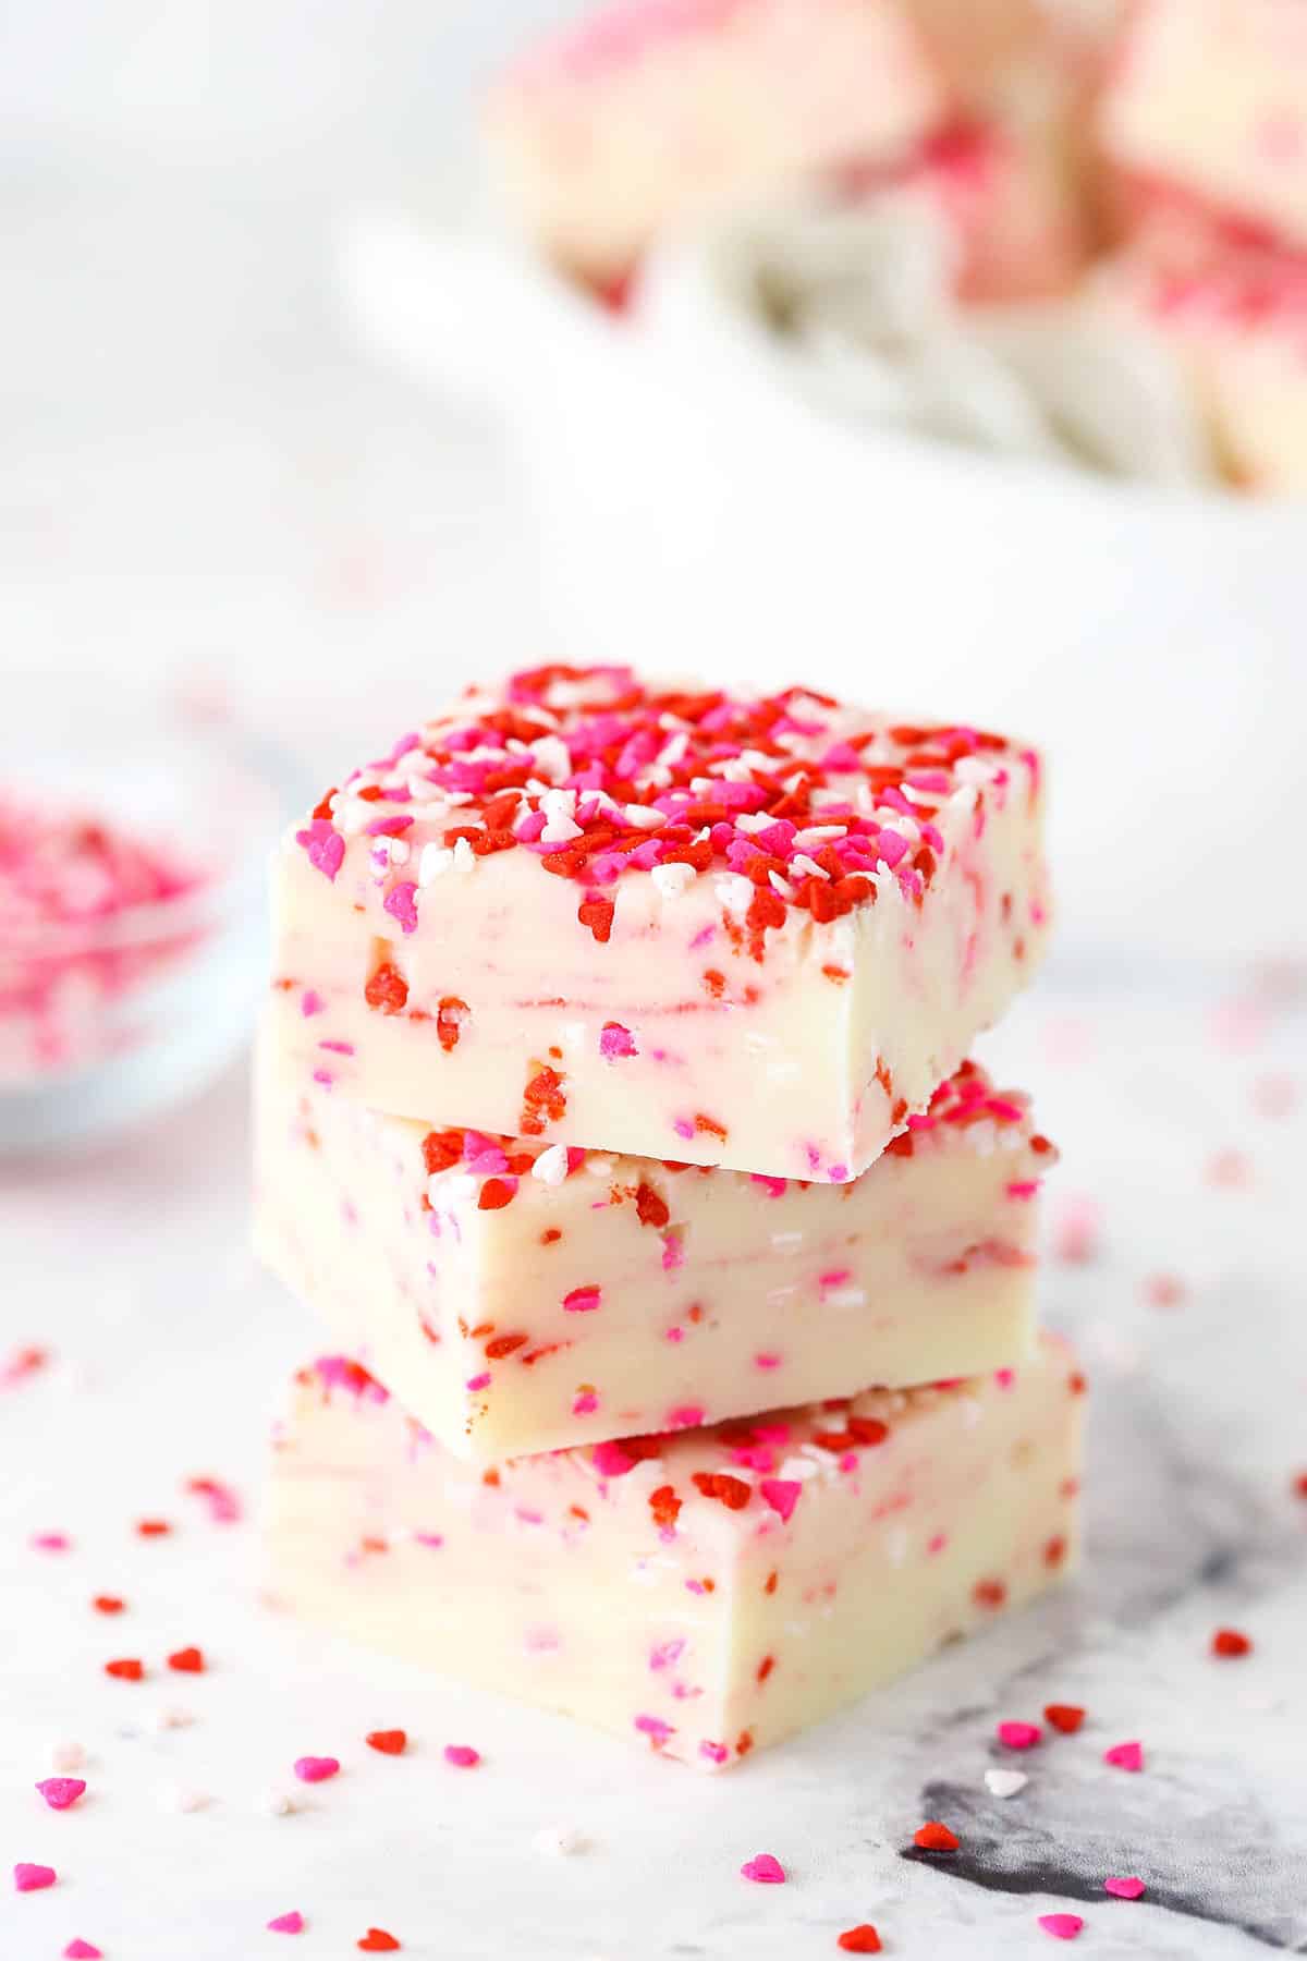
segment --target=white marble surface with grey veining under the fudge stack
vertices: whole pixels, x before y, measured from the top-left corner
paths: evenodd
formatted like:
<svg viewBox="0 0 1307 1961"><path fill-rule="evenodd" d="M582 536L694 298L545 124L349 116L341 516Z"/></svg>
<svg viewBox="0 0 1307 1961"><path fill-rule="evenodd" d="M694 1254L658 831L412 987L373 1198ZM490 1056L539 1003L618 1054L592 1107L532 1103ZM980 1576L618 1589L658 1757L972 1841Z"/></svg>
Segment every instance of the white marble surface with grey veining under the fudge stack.
<svg viewBox="0 0 1307 1961"><path fill-rule="evenodd" d="M210 1473L255 1506L278 1386L315 1345L245 1251L241 1081L174 1128L10 1175L0 1353L33 1341L51 1363L0 1394L0 1845L59 1885L0 1890L6 1961L74 1934L108 1961L274 1955L286 1937L263 1926L288 1908L308 1920L294 1953L353 1953L382 1926L431 1961L801 1961L860 1920L886 1953L974 1961L1048 1951L1037 1916L1056 1908L1086 1916L1086 1955L1301 1951L1307 1022L1283 994L1244 986L1231 1008L1172 979L1125 1000L1054 975L990 1039L1062 1143L1054 1228L1099 1208L1095 1257L1050 1261L1044 1290L1091 1377L1086 1577L715 1781L280 1620L255 1526L184 1496ZM1178 1304L1150 1302L1156 1275ZM143 1541L143 1516L176 1530ZM69 1551L29 1545L51 1530ZM127 1612L96 1614L100 1590ZM1209 1657L1225 1624L1252 1635L1246 1659ZM186 1643L208 1673L163 1667ZM106 1679L114 1655L147 1681ZM1082 1702L1084 1732L992 1798L995 1720L1048 1700ZM159 1734L172 1708L194 1722ZM402 1759L364 1747L390 1726L413 1739ZM55 1816L31 1783L67 1737L90 1790ZM1138 1777L1101 1761L1127 1737ZM451 1771L447 1741L484 1763ZM296 1785L304 1753L343 1775ZM292 1816L259 1812L276 1788ZM180 1812L178 1790L210 1802ZM923 1816L962 1853L905 1859ZM543 1851L555 1826L588 1849ZM756 1851L786 1886L739 1877ZM1148 1894L1105 1898L1109 1873Z"/></svg>

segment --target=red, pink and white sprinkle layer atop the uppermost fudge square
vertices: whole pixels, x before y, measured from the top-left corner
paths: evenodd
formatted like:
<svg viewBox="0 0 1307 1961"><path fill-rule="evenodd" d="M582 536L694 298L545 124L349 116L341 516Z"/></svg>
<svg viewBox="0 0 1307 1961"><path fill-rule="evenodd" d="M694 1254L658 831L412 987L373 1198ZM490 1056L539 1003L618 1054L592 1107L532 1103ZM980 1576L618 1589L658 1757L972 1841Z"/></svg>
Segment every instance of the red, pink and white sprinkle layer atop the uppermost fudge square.
<svg viewBox="0 0 1307 1961"><path fill-rule="evenodd" d="M709 875L762 959L788 908L829 922L888 879L921 902L944 851L941 808L964 798L980 824L986 796L1037 782L1035 753L984 729L886 722L805 688L690 694L625 667L555 665L402 735L327 790L296 841L335 880L345 839L374 839L404 933L433 880L500 851L578 882L578 920L600 943L621 877L649 875L672 898Z"/></svg>

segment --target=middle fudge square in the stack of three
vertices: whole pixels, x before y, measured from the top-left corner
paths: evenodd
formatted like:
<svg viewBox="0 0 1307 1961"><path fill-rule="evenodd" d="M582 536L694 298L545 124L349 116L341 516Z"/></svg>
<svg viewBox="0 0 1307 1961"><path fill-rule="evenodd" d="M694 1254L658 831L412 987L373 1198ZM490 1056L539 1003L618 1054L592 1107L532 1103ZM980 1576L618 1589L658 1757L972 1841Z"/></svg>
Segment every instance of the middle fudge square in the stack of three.
<svg viewBox="0 0 1307 1961"><path fill-rule="evenodd" d="M255 1237L451 1451L686 1430L1021 1361L1056 1153L966 1063L848 1184L376 1116L261 1057Z"/></svg>

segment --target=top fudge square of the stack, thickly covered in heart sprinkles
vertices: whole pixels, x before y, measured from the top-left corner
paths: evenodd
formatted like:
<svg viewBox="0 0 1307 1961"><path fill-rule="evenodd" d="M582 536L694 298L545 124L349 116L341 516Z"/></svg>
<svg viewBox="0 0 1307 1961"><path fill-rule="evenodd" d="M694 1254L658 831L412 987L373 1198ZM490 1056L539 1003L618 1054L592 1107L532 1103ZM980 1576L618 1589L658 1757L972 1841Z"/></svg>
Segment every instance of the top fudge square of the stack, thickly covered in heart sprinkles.
<svg viewBox="0 0 1307 1961"><path fill-rule="evenodd" d="M982 729L519 673L286 833L276 1039L392 1116L843 1182L1031 977L1041 814Z"/></svg>

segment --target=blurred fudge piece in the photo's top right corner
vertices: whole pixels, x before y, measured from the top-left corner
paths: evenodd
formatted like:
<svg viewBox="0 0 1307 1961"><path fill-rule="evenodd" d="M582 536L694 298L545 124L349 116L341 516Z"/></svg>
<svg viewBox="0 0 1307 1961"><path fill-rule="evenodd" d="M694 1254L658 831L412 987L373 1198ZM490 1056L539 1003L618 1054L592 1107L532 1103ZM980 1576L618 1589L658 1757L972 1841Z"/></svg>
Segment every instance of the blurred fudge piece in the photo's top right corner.
<svg viewBox="0 0 1307 1961"><path fill-rule="evenodd" d="M1129 175L1307 247L1307 8L1144 0L1101 110Z"/></svg>

